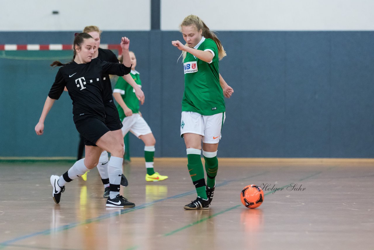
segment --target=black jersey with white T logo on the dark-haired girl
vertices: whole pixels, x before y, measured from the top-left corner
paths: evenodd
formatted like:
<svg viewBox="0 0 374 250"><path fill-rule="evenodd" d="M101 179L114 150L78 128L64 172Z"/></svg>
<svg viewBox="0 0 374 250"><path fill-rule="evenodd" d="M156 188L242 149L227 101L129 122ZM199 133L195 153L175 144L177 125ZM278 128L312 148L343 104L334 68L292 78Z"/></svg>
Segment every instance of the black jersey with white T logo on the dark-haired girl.
<svg viewBox="0 0 374 250"><path fill-rule="evenodd" d="M73 61L60 67L48 96L52 99L59 99L66 86L73 100L74 123L87 116L94 116L104 121L102 88L105 80L103 75L123 76L130 71L131 67L120 63L109 63L98 58L81 64Z"/></svg>

